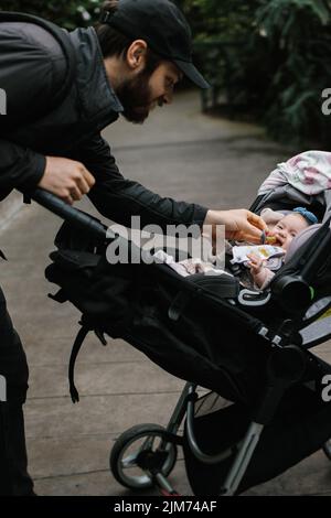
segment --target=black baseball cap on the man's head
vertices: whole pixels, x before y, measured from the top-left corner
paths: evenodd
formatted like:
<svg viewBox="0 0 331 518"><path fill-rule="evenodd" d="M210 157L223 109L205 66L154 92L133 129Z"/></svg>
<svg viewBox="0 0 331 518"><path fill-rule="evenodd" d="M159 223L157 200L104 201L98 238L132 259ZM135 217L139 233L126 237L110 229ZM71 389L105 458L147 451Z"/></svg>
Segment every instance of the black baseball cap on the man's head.
<svg viewBox="0 0 331 518"><path fill-rule="evenodd" d="M160 56L173 62L200 88L209 88L192 62L192 33L180 9L169 0L119 0L118 9L104 11L100 23L128 37L145 40Z"/></svg>

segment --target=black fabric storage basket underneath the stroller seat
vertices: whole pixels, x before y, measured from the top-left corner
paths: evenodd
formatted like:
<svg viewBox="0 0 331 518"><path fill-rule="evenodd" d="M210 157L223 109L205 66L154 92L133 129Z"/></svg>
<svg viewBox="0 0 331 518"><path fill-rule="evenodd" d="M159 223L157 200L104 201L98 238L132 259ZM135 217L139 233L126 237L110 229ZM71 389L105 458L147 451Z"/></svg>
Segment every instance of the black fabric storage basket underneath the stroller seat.
<svg viewBox="0 0 331 518"><path fill-rule="evenodd" d="M200 409L194 430L200 447L205 453L217 454L243 439L250 416L247 407L239 403L203 414L211 397L215 395L196 402ZM290 389L277 414L264 429L237 493L270 481L318 451L331 436L330 416L331 403L323 403L320 393L306 386ZM184 434L184 458L194 495L220 495L235 452L223 462L206 465L193 455L186 438Z"/></svg>

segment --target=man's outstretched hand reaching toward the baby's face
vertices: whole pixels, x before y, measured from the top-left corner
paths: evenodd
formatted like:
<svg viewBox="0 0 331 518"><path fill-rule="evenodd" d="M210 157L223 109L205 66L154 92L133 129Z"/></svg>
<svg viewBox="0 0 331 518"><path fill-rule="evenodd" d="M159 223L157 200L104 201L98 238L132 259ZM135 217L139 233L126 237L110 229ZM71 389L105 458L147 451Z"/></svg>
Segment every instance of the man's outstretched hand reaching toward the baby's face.
<svg viewBox="0 0 331 518"><path fill-rule="evenodd" d="M213 225L213 240L216 226L225 225L226 239L260 244L261 230L267 230L266 223L256 214L238 208L233 211L209 211L204 225Z"/></svg>

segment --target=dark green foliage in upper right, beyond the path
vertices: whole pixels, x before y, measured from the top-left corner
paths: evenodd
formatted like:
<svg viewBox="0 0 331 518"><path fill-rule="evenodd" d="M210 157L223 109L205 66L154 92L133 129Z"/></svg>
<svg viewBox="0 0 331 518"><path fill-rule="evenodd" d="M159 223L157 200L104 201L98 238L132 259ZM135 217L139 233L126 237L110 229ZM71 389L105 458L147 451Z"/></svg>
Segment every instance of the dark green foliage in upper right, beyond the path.
<svg viewBox="0 0 331 518"><path fill-rule="evenodd" d="M331 117L321 111L322 90L331 87L330 0L179 3L195 42L204 42L196 50L214 102L221 89L233 114L244 108L277 139L330 147Z"/></svg>

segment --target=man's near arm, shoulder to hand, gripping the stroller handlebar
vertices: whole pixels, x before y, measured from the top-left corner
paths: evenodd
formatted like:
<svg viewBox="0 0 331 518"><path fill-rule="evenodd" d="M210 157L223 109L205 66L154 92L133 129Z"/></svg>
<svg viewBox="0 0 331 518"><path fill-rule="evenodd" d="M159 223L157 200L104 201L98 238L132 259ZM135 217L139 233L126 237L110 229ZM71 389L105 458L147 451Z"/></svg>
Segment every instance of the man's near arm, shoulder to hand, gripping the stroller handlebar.
<svg viewBox="0 0 331 518"><path fill-rule="evenodd" d="M0 199L15 187L40 185L73 203L93 185L83 164L43 157L11 138L22 116L29 120L46 111L65 74L65 56L47 31L30 23L0 24L0 88L7 95L7 115L0 118Z"/></svg>

